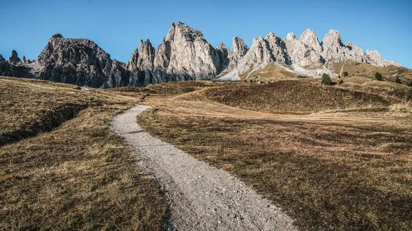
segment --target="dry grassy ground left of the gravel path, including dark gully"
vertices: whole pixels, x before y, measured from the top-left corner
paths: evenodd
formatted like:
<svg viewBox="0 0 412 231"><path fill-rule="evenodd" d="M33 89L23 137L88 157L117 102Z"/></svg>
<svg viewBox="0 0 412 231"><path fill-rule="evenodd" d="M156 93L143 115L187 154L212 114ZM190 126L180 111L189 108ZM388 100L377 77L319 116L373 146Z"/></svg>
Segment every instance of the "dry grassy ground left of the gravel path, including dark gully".
<svg viewBox="0 0 412 231"><path fill-rule="evenodd" d="M1 230L165 228L159 184L108 129L133 105L37 80L0 88Z"/></svg>

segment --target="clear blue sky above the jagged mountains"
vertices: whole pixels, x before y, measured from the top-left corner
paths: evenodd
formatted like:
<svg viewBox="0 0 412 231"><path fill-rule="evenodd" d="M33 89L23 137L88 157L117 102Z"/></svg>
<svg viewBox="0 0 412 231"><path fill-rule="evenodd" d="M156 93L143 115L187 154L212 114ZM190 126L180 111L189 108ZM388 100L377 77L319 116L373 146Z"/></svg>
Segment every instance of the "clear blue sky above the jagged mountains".
<svg viewBox="0 0 412 231"><path fill-rule="evenodd" d="M157 47L172 22L181 21L203 32L216 47L230 49L233 36L250 47L254 37L274 32L284 38L305 29L319 40L338 29L366 51L412 68L412 1L42 1L0 0L0 53L15 49L36 59L56 33L65 38L89 38L127 62L141 39Z"/></svg>

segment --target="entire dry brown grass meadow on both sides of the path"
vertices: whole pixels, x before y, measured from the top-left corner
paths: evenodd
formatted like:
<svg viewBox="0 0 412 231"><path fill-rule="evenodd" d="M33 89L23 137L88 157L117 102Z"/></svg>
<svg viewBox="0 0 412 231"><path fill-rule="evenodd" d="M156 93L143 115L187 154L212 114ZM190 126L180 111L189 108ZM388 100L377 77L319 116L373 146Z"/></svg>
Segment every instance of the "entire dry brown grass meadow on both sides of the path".
<svg viewBox="0 0 412 231"><path fill-rule="evenodd" d="M225 169L301 230L412 230L412 88L176 82L80 90L0 77L1 230L163 230L159 184L111 118L151 109L144 130Z"/></svg>

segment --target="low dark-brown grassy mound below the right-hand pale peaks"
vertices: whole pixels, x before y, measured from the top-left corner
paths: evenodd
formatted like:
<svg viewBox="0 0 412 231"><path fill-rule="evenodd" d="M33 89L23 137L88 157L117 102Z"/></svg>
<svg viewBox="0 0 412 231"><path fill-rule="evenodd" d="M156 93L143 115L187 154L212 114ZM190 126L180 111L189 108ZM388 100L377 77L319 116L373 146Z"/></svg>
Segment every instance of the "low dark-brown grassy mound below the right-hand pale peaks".
<svg viewBox="0 0 412 231"><path fill-rule="evenodd" d="M312 113L325 110L381 110L396 99L321 86L317 82L284 80L205 90L205 97L222 104L262 112Z"/></svg>

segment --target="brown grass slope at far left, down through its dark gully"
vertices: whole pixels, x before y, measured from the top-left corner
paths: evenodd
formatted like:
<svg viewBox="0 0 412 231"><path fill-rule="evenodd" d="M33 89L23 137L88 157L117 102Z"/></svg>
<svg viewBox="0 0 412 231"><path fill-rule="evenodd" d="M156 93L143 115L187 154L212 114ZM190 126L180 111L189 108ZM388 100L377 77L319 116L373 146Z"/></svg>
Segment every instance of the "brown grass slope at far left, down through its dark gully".
<svg viewBox="0 0 412 231"><path fill-rule="evenodd" d="M0 77L0 145L47 132L88 106L119 103L69 84Z"/></svg>

